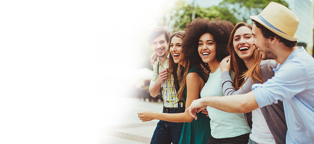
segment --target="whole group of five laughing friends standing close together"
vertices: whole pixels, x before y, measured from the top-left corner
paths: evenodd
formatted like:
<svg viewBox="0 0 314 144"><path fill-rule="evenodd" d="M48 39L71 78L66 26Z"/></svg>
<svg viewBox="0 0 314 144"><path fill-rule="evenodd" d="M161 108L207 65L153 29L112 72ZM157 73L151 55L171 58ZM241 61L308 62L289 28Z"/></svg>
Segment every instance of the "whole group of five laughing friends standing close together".
<svg viewBox="0 0 314 144"><path fill-rule="evenodd" d="M150 95L163 112L151 144L314 143L314 59L297 47L299 19L271 2L254 24L196 18L153 28Z"/></svg>

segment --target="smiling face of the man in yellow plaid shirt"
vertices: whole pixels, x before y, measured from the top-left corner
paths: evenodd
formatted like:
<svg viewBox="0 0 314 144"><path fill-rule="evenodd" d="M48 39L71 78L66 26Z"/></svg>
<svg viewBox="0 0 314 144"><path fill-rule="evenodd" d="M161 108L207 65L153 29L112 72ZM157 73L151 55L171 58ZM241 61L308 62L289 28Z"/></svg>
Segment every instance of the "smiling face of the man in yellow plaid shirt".
<svg viewBox="0 0 314 144"><path fill-rule="evenodd" d="M157 38L152 41L152 48L160 58L166 57L168 42L165 34L160 34Z"/></svg>

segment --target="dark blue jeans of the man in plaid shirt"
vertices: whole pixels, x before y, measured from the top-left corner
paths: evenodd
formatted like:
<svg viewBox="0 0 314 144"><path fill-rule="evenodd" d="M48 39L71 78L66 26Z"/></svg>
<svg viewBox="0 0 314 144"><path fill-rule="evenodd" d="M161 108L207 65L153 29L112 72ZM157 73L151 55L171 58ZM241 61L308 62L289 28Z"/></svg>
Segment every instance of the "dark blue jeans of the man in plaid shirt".
<svg viewBox="0 0 314 144"><path fill-rule="evenodd" d="M182 108L165 108L163 113L181 113ZM150 144L177 144L179 143L183 122L159 121Z"/></svg>

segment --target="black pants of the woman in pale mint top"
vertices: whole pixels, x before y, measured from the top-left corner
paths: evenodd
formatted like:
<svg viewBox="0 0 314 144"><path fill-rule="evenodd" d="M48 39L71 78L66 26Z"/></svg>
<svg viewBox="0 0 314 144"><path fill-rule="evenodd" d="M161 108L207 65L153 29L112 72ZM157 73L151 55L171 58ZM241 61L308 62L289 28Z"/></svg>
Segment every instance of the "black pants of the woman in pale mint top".
<svg viewBox="0 0 314 144"><path fill-rule="evenodd" d="M229 137L229 138L214 138L210 135L207 144L247 144L249 141L250 133L246 133L241 136Z"/></svg>

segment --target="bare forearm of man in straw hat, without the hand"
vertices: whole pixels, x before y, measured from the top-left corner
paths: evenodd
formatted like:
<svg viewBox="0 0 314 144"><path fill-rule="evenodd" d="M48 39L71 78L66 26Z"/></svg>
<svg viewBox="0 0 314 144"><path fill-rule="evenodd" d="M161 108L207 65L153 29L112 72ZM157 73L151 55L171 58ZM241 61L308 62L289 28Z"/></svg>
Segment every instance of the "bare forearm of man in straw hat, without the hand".
<svg viewBox="0 0 314 144"><path fill-rule="evenodd" d="M258 108L253 91L242 95L206 96L201 102L203 105L232 113L247 113Z"/></svg>

